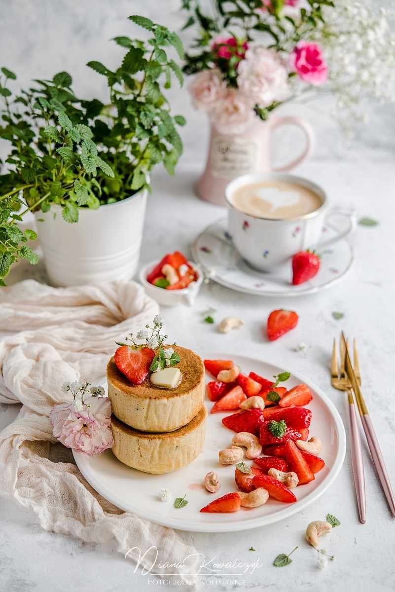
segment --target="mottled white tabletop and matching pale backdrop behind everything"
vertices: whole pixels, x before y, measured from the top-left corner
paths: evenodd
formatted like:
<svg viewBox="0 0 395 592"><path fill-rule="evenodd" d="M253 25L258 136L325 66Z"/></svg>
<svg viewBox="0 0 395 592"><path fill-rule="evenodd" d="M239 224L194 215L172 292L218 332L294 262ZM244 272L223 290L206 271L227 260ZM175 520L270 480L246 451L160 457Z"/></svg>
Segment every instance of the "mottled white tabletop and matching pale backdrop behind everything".
<svg viewBox="0 0 395 592"><path fill-rule="evenodd" d="M3 0L0 18L2 63L20 73L22 83L38 76L50 76L69 69L77 92L88 98L104 96L100 77L83 64L99 59L112 66L122 53L108 39L129 34L129 14L140 12L177 28L182 23L176 0ZM51 48L48 51L48 47ZM98 85L99 91L96 91ZM100 86L102 85L102 86ZM190 244L207 224L222 217L224 210L199 201L193 183L205 157L208 126L189 107L186 92L172 91L175 112L183 112L189 125L183 130L185 155L172 179L157 170L153 195L148 201L141 263L164 252L180 249L190 253ZM395 422L393 402L395 382L394 332L394 218L395 156L394 107L371 111L373 124L358 132L352 148L345 150L335 125L306 108L287 107L302 114L318 130L318 145L310 160L297 169L325 188L332 204L357 208L362 216L380 221L374 228L358 227L352 242L356 261L351 274L335 287L309 297L258 298L232 292L214 283L204 286L192 308L163 310L171 339L192 349L207 348L273 361L305 374L334 401L347 422L344 395L330 386L329 364L333 337L341 329L357 337L362 381L371 418L380 441L388 473L395 487ZM288 132L290 133L290 132ZM297 136L294 136L297 142ZM277 136L274 153L286 157L293 136ZM3 146L4 149L4 146ZM37 268L21 262L12 271L10 282L34 276L45 281L43 261ZM247 321L245 327L226 336L215 325L202 322L207 307L216 308L216 321L235 314ZM274 343L261 332L268 313L274 308L293 308L300 316L297 328ZM344 313L341 321L332 311ZM304 359L295 348L299 342L311 349ZM0 427L14 419L17 406L0 407ZM364 436L362 435L362 442ZM381 592L395 590L395 520L391 519L380 484L364 443L367 483L367 523L358 522L352 484L351 461L345 464L334 485L319 500L291 519L237 535L180 532L206 559L217 562L256 561L262 567L245 574L244 584L208 584L202 590L270 590L278 592ZM342 525L327 536L323 545L336 561L319 571L316 552L309 548L303 533L310 520L324 519L327 512L338 516ZM0 590L7 592L140 592L155 585L134 572L134 566L116 552L114 543L86 545L79 540L41 529L34 513L0 500ZM293 563L284 568L272 565L279 553L299 549ZM253 546L255 552L248 551ZM237 578L236 578L237 579ZM196 578L199 583L199 578ZM226 583L226 580L228 583ZM240 578L238 578L240 580ZM156 584L157 586L160 583ZM169 584L170 586L170 584ZM169 587L167 586L167 587ZM170 588L185 589L182 586Z"/></svg>

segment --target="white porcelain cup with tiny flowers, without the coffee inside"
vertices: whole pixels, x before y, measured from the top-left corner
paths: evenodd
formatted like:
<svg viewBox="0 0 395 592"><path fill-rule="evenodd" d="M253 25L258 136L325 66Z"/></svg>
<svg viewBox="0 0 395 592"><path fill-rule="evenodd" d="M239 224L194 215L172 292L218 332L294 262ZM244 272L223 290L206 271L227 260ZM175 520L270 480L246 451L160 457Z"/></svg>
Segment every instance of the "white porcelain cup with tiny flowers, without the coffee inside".
<svg viewBox="0 0 395 592"><path fill-rule="evenodd" d="M286 181L302 185L320 198L320 207L310 214L293 218L264 218L239 211L232 202L234 192L244 185L259 181ZM332 209L328 211L326 194L318 185L295 175L284 173L251 173L233 179L225 189L228 205L228 230L235 247L247 263L260 271L272 271L286 263L300 250L313 250L326 247L343 239L354 230L356 220L353 212ZM329 216L347 218L347 227L326 242L320 242L325 220ZM329 224L328 224L329 226ZM336 229L337 230L337 229Z"/></svg>

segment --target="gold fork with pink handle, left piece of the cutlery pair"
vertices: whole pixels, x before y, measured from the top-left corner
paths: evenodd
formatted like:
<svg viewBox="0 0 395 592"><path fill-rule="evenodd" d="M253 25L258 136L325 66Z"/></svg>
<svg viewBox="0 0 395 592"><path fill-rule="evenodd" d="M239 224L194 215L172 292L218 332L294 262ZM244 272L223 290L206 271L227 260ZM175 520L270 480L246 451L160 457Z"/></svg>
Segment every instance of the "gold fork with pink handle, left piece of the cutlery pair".
<svg viewBox="0 0 395 592"><path fill-rule="evenodd" d="M348 345L348 344L347 344ZM338 366L338 359L336 355L336 339L334 339L334 349L332 351L331 364L331 382L332 387L339 391L347 392L348 398L348 429L349 442L351 448L351 463L352 472L354 475L355 493L357 494L358 512L360 514L361 524L366 522L366 494L365 494L365 474L364 461L362 458L362 445L360 430L358 429L357 413L355 412L354 398L352 397L351 382L345 374L345 357L346 348L345 342L340 340L340 368ZM357 345L354 339L354 366L355 377L358 384L361 384L360 366L358 364ZM358 374L357 374L358 372Z"/></svg>

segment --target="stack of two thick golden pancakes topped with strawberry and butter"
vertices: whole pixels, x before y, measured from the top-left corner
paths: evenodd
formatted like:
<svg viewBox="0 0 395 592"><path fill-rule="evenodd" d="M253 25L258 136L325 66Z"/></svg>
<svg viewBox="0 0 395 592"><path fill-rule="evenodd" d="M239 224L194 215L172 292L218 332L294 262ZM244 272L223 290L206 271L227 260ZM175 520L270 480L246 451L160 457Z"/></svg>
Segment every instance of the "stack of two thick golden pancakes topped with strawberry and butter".
<svg viewBox="0 0 395 592"><path fill-rule="evenodd" d="M107 379L116 458L147 473L195 460L207 418L205 369L196 353L163 343L156 350L122 345L108 362Z"/></svg>

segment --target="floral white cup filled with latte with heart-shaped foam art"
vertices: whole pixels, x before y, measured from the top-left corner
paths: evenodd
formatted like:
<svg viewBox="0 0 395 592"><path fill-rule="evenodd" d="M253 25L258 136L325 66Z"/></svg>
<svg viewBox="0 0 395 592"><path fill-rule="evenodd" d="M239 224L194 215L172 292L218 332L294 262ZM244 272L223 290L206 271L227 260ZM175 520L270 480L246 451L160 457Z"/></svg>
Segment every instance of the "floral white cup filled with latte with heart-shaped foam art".
<svg viewBox="0 0 395 592"><path fill-rule="evenodd" d="M259 271L270 272L299 251L319 250L355 229L355 214L328 209L318 185L286 173L250 173L233 179L225 189L228 231L242 258ZM324 224L336 215L345 229L319 242Z"/></svg>

